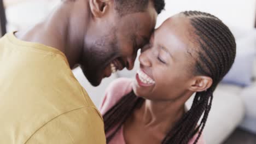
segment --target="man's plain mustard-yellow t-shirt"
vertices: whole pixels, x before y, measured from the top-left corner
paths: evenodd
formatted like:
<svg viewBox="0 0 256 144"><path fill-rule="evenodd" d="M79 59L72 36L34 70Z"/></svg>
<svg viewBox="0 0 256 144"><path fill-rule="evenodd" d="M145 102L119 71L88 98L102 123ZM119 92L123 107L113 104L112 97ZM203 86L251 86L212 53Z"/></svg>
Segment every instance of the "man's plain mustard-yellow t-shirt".
<svg viewBox="0 0 256 144"><path fill-rule="evenodd" d="M102 117L62 52L0 39L0 143L106 143Z"/></svg>

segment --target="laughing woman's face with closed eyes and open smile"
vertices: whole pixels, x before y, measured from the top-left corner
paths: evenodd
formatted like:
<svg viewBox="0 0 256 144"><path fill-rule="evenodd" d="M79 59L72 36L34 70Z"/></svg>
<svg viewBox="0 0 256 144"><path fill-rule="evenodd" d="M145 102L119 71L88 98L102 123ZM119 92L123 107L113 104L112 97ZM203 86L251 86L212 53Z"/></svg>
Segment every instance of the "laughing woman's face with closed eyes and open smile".
<svg viewBox="0 0 256 144"><path fill-rule="evenodd" d="M195 65L189 30L189 19L181 14L155 30L139 56L140 69L132 86L138 97L176 100L189 91Z"/></svg>

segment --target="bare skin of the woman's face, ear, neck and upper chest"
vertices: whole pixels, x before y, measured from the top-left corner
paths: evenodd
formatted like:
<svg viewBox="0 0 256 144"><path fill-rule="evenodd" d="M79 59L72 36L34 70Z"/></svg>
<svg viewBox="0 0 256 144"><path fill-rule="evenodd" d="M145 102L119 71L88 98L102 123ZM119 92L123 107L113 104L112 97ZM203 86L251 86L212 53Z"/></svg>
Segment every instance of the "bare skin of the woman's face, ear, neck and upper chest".
<svg viewBox="0 0 256 144"><path fill-rule="evenodd" d="M141 86L133 81L133 91L146 101L124 124L127 143L161 143L183 116L185 101L194 92L211 87L211 77L193 73L199 51L190 39L193 30L188 18L175 15L162 23L143 47L140 68L155 83Z"/></svg>

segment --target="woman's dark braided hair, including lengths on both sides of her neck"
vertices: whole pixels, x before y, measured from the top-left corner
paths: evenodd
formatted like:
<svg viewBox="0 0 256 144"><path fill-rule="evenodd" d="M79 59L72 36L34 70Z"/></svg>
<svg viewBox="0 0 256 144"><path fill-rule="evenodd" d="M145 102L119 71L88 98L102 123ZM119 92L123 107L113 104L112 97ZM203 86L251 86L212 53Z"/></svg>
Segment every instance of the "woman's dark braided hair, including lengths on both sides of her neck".
<svg viewBox="0 0 256 144"><path fill-rule="evenodd" d="M196 93L190 110L170 129L161 142L163 144L187 144L198 133L199 135L194 141L197 143L211 109L213 92L224 75L228 73L236 55L235 38L229 28L217 17L200 11L184 11L181 14L190 20L195 35L193 39L200 47L195 59L194 74L209 76L213 83L207 91ZM105 132L108 133L114 129L113 133L107 137L107 142L113 138L136 107L141 106L143 102L144 99L136 97L134 92L130 92L103 115ZM201 117L202 119L197 125Z"/></svg>

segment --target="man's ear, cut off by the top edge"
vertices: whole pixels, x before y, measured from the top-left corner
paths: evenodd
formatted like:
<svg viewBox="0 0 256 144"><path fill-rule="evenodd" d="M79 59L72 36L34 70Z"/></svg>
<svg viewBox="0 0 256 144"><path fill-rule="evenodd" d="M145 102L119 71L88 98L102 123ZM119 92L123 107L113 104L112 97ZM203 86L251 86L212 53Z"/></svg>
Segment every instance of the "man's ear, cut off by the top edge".
<svg viewBox="0 0 256 144"><path fill-rule="evenodd" d="M89 5L94 17L102 17L109 9L109 0L89 0Z"/></svg>

